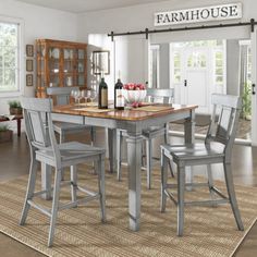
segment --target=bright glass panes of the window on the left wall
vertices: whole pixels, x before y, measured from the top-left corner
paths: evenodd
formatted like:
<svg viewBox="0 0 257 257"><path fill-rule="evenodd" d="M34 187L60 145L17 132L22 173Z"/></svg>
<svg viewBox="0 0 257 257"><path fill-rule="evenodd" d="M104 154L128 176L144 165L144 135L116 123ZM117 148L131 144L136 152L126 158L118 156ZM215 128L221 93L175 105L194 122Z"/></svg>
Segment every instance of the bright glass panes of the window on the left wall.
<svg viewBox="0 0 257 257"><path fill-rule="evenodd" d="M21 93L20 23L0 17L0 96Z"/></svg>

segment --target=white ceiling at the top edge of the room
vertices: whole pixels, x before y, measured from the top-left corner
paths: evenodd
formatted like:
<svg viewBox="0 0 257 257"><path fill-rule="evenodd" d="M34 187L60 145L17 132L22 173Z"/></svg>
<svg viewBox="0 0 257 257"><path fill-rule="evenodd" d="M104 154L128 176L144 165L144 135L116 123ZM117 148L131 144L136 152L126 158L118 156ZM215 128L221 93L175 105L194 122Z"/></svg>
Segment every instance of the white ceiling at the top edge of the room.
<svg viewBox="0 0 257 257"><path fill-rule="evenodd" d="M82 13L113 8L136 5L142 3L161 2L164 0L16 0L46 8L58 9L68 12Z"/></svg>

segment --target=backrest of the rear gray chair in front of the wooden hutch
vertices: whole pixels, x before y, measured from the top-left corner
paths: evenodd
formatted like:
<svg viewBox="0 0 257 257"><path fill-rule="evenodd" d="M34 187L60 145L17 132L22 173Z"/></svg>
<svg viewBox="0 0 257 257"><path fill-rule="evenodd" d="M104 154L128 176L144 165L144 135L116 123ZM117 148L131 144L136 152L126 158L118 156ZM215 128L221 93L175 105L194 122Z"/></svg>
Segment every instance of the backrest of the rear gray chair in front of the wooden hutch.
<svg viewBox="0 0 257 257"><path fill-rule="evenodd" d="M78 90L78 87L48 87L47 95L56 97L57 106L65 106L70 103L70 96L72 90Z"/></svg>

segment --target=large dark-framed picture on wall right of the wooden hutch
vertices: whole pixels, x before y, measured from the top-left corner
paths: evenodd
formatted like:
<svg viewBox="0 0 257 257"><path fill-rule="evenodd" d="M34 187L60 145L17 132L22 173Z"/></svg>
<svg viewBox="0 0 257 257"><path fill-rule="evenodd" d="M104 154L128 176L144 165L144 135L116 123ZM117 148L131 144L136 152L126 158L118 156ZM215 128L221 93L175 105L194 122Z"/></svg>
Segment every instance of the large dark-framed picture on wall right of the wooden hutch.
<svg viewBox="0 0 257 257"><path fill-rule="evenodd" d="M93 72L95 75L110 74L110 51L93 51Z"/></svg>

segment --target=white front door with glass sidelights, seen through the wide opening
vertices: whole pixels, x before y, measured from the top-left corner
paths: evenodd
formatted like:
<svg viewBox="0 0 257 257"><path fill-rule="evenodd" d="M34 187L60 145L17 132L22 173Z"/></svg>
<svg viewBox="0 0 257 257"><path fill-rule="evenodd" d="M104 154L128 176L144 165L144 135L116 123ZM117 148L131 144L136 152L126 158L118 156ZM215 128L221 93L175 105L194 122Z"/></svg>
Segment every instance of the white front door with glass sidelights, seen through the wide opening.
<svg viewBox="0 0 257 257"><path fill-rule="evenodd" d="M200 45L200 46L197 46ZM171 44L171 87L175 102L198 105L196 112L211 113L211 94L227 91L224 42L216 40Z"/></svg>

